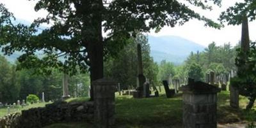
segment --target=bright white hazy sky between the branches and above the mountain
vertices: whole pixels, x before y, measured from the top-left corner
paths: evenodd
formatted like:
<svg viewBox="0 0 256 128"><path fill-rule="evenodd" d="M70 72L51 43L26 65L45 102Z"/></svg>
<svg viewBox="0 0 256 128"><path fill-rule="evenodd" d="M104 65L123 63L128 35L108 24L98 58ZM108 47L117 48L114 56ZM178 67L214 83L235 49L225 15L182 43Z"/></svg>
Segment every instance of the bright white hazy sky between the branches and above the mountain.
<svg viewBox="0 0 256 128"><path fill-rule="evenodd" d="M183 1L183 0L180 0ZM209 17L212 20L217 20L221 11L224 11L228 6L234 5L237 1L243 0L222 0L221 8L214 6L212 11L196 10L198 13ZM0 0L0 3L4 3L6 8L8 8L17 18L27 20L32 22L35 18L45 16L46 11L34 11L35 1L28 0ZM250 39L253 41L256 39L256 22L250 22ZM241 25L238 26L225 26L223 29L212 29L209 27L204 27L204 22L199 22L198 20L190 20L182 26L176 27L164 27L160 32L155 33L154 31L150 32L149 35L153 36L166 36L174 35L180 36L182 38L195 41L201 45L207 46L212 41L215 41L217 45L223 45L223 43L230 42L232 45L241 39Z"/></svg>

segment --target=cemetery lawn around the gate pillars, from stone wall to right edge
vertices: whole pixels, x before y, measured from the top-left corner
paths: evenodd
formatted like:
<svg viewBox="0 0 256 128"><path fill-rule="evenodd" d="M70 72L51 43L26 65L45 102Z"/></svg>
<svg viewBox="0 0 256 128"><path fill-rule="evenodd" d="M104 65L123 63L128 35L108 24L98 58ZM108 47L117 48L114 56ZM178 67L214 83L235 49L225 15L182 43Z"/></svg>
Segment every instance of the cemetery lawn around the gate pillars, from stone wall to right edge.
<svg viewBox="0 0 256 128"><path fill-rule="evenodd" d="M83 101L86 98L70 99ZM229 92L218 94L218 122L251 121L256 119L255 109L248 113L244 111L248 100L240 97L240 109L229 107ZM83 122L54 124L44 128L92 128L92 124ZM167 99L163 94L160 97L148 99L134 99L131 96L116 96L116 126L120 128L153 128L153 127L182 127L182 97L177 94Z"/></svg>

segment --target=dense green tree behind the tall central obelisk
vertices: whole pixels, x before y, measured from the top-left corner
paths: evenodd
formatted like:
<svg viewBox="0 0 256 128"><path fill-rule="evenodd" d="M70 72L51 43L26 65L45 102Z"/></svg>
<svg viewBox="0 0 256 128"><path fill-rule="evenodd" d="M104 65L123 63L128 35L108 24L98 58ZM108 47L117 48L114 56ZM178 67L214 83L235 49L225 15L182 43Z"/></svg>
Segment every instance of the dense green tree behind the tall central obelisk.
<svg viewBox="0 0 256 128"><path fill-rule="evenodd" d="M116 57L104 63L104 75L120 83L121 89L128 86L136 87L138 76L137 44L141 44L143 74L152 85L157 84L158 66L150 57L150 46L147 36L138 34L136 38L129 39L129 44L122 49Z"/></svg>

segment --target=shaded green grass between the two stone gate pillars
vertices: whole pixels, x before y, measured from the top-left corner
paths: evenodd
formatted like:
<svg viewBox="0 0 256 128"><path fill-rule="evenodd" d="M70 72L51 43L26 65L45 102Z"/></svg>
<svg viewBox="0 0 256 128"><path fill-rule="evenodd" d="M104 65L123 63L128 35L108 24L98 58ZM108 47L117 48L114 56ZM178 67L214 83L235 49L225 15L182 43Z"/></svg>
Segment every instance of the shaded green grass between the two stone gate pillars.
<svg viewBox="0 0 256 128"><path fill-rule="evenodd" d="M147 99L116 98L116 124L162 127L182 124L182 99L165 96Z"/></svg>

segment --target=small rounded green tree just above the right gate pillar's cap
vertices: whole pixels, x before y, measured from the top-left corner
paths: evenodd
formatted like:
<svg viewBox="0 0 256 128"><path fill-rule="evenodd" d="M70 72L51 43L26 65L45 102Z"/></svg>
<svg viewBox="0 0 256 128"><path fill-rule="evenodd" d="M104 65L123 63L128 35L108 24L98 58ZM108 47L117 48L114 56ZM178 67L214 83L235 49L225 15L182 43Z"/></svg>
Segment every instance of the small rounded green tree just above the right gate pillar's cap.
<svg viewBox="0 0 256 128"><path fill-rule="evenodd" d="M193 63L189 65L189 69L188 69L189 78L193 78L195 81L202 81L203 76L204 74L199 64Z"/></svg>

